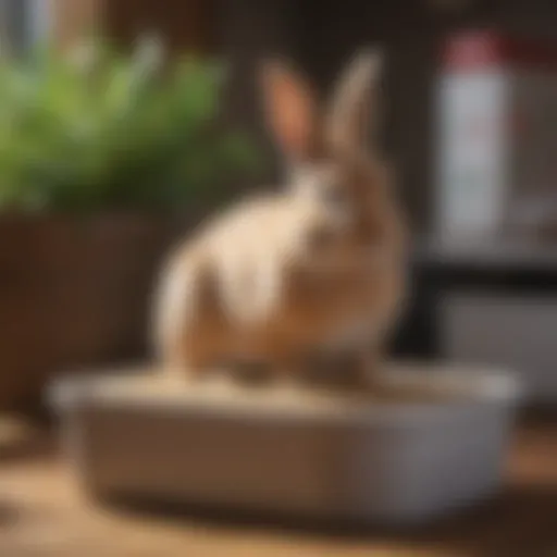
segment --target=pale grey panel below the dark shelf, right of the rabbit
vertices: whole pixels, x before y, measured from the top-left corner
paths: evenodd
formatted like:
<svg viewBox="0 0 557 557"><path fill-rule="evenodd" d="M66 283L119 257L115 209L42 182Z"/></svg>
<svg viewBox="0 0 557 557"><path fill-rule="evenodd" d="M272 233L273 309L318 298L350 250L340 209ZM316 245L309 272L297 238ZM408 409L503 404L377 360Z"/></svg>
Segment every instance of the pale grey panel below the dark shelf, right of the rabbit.
<svg viewBox="0 0 557 557"><path fill-rule="evenodd" d="M557 297L445 293L438 318L444 357L505 366L532 400L557 401Z"/></svg>

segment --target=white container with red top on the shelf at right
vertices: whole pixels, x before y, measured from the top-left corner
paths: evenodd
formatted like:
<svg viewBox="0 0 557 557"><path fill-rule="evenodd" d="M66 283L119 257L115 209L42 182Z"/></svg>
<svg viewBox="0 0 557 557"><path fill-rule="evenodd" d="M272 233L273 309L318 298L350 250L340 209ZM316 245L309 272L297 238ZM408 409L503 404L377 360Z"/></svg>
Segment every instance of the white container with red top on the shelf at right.
<svg viewBox="0 0 557 557"><path fill-rule="evenodd" d="M529 234L557 222L557 50L493 32L453 36L438 82L437 232Z"/></svg>

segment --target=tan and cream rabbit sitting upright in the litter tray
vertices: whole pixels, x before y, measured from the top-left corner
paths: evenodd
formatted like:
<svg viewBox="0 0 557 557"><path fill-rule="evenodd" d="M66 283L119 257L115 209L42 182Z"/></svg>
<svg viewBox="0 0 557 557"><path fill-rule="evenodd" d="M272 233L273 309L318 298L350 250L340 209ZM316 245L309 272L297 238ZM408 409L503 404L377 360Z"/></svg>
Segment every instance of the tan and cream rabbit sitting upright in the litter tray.
<svg viewBox="0 0 557 557"><path fill-rule="evenodd" d="M320 117L299 76L263 67L288 184L239 202L172 255L154 319L164 369L257 361L295 376L306 355L349 349L373 370L406 282L404 220L377 149L366 149L380 70L379 52L361 52Z"/></svg>

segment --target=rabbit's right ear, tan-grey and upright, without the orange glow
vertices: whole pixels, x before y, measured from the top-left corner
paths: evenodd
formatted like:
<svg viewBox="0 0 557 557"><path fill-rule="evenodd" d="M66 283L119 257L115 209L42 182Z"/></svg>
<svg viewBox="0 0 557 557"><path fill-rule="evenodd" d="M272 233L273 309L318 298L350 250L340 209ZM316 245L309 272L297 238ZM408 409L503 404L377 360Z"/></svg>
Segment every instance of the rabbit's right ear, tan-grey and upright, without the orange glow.
<svg viewBox="0 0 557 557"><path fill-rule="evenodd" d="M342 76L327 115L327 140L342 148L358 148L376 124L377 86L383 66L379 49L362 50Z"/></svg>

